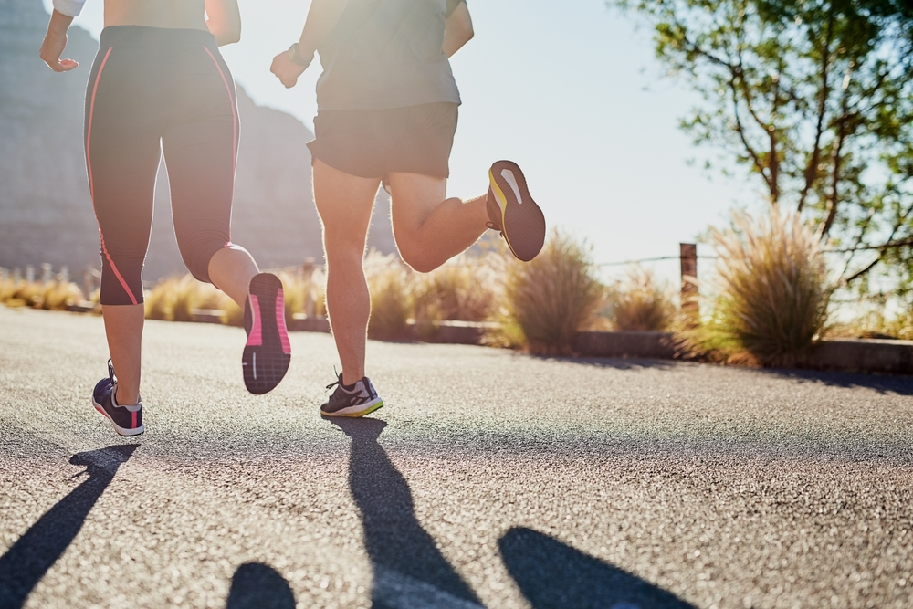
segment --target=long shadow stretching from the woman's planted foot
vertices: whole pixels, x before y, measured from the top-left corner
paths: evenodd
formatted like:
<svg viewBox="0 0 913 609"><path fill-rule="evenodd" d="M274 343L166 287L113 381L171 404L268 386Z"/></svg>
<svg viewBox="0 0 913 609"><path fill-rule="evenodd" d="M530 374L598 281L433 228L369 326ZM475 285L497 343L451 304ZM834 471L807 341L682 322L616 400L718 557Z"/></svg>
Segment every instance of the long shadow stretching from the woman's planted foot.
<svg viewBox="0 0 913 609"><path fill-rule="evenodd" d="M15 609L26 603L41 578L82 529L89 511L108 488L118 467L131 457L138 444L108 446L70 457L73 465L86 466L73 478L88 475L77 488L58 501L0 557L0 607Z"/></svg>

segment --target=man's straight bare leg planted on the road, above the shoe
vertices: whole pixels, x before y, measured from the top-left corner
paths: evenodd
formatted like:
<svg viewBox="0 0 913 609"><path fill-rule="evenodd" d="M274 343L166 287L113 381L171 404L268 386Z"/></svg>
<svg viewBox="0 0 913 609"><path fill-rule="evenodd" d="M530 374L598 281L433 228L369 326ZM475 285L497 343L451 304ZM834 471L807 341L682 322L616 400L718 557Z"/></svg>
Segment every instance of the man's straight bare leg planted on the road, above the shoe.
<svg viewBox="0 0 913 609"><path fill-rule="evenodd" d="M327 257L327 313L342 363L342 383L364 376L371 313L362 258L379 178L360 178L314 159L314 201Z"/></svg>

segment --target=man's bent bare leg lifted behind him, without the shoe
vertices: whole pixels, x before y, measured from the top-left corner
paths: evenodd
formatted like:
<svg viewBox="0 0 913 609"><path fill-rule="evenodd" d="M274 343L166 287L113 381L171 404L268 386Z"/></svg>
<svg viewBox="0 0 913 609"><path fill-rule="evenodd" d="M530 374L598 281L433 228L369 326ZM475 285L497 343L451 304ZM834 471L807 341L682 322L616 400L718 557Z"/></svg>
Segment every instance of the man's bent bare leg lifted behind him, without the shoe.
<svg viewBox="0 0 913 609"><path fill-rule="evenodd" d="M396 246L406 264L427 273L462 253L486 230L485 195L446 199L446 179L390 173Z"/></svg>

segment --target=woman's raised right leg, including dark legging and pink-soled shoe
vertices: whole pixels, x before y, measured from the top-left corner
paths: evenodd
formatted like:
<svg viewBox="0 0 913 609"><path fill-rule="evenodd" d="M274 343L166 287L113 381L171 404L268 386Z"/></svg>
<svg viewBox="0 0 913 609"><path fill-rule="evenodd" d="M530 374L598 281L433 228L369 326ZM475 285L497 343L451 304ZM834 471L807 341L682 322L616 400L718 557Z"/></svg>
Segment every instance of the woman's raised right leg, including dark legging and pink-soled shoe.
<svg viewBox="0 0 913 609"><path fill-rule="evenodd" d="M217 48L182 51L173 121L163 133L174 233L194 278L225 291L245 310L241 369L252 394L271 391L289 370L291 345L282 283L258 273L254 258L231 243L238 142L235 88ZM186 86L187 82L193 86Z"/></svg>

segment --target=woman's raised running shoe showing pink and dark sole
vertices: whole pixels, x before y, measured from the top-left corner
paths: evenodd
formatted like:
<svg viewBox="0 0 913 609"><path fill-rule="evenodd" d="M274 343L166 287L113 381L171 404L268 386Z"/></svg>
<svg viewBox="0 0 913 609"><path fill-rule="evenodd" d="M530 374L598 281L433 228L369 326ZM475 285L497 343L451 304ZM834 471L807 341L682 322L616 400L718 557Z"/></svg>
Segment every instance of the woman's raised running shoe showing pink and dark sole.
<svg viewBox="0 0 913 609"><path fill-rule="evenodd" d="M250 280L248 291L244 307L247 344L241 367L247 391L266 394L282 380L291 361L282 282L272 273L260 273Z"/></svg>

